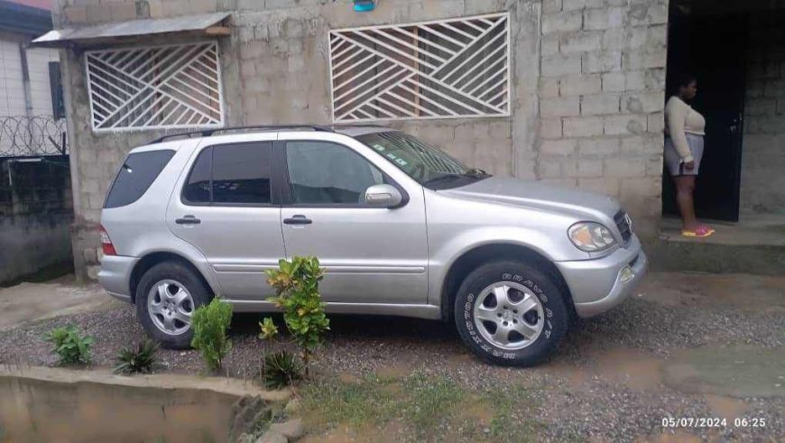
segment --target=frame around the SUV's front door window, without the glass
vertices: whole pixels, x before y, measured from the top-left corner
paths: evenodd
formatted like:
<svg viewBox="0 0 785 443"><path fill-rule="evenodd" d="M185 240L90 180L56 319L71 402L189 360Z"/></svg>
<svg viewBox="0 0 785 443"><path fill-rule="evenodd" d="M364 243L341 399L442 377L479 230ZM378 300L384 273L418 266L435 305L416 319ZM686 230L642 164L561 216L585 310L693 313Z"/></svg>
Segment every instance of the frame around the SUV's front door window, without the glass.
<svg viewBox="0 0 785 443"><path fill-rule="evenodd" d="M278 154L278 161L281 164L281 168L278 168L277 171L280 173L280 186L278 186L277 190L280 192L281 197L281 206L282 208L344 208L344 209L385 209L380 208L378 206L370 205L368 203L295 203L294 198L291 195L291 179L289 176L289 159L286 155L286 149L288 143L325 143L325 144L334 144L338 147L344 148L349 150L350 152L354 152L356 156L368 162L376 168L382 174L383 180L387 181L390 186L395 189L398 189L401 192L402 200L401 203L393 208L386 208L386 209L397 209L406 206L409 203L409 193L406 192L397 181L392 179L390 174L385 172L382 168L380 168L376 163L371 161L369 158L365 157L365 155L357 152L356 149L353 149L351 146L348 146L344 143L333 142L330 140L318 140L318 139L290 139L290 140L282 140L279 142L274 143L273 145L273 152L277 152ZM273 190L274 192L274 190Z"/></svg>

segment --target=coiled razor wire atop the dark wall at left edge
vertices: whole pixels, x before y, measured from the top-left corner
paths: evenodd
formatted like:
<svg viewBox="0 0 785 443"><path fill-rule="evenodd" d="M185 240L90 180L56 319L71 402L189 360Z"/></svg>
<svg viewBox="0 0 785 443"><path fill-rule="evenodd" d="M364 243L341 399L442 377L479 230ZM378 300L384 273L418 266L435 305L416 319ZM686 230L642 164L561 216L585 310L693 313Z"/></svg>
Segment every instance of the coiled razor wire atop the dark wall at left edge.
<svg viewBox="0 0 785 443"><path fill-rule="evenodd" d="M0 116L0 158L68 154L65 119Z"/></svg>

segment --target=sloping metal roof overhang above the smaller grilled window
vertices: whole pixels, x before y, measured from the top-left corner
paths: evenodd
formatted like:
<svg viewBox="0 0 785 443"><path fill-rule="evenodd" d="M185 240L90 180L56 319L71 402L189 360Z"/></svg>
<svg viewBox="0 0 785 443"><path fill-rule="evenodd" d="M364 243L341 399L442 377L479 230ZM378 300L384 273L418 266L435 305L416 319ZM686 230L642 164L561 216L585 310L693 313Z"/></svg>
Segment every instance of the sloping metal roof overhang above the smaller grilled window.
<svg viewBox="0 0 785 443"><path fill-rule="evenodd" d="M92 45L106 42L124 42L126 39L152 37L173 32L196 35L226 36L231 30L221 23L229 13L183 15L173 18L130 20L56 29L32 41L35 46L63 47Z"/></svg>

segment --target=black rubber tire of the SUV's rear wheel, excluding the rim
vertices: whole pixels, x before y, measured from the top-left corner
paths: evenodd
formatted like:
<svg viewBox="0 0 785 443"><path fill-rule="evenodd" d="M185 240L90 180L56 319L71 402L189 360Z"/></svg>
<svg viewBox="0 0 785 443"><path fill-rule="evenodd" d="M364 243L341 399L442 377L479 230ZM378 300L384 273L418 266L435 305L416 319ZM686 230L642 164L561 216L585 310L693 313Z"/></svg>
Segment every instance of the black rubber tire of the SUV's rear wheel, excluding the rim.
<svg viewBox="0 0 785 443"><path fill-rule="evenodd" d="M155 325L148 311L148 294L150 294L153 285L165 280L177 281L185 287L193 300L192 309L197 309L199 306L209 303L213 298L213 294L202 281L199 274L192 271L188 266L177 262L163 262L152 266L147 272L144 272L142 279L136 286L136 317L147 333L161 343L162 347L168 349L188 349L193 338L193 330L191 328L178 335L167 334Z"/></svg>

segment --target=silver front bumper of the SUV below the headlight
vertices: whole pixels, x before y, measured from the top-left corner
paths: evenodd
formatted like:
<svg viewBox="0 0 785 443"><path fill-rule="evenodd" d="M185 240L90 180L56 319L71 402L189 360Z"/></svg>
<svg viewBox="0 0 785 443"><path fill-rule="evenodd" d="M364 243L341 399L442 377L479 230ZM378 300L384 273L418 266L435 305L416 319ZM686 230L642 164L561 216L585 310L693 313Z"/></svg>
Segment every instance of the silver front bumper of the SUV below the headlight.
<svg viewBox="0 0 785 443"><path fill-rule="evenodd" d="M589 318L625 300L642 281L649 261L633 235L627 247L605 257L556 265L567 281L578 317Z"/></svg>

